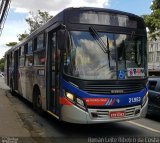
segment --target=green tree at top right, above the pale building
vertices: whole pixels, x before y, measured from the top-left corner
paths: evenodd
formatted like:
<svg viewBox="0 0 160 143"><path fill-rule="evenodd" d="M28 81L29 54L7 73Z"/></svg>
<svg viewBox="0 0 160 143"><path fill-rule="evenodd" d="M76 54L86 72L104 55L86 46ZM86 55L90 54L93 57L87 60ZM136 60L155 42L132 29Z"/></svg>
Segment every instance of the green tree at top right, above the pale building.
<svg viewBox="0 0 160 143"><path fill-rule="evenodd" d="M153 0L151 5L151 14L144 15L144 21L149 29L151 39L156 40L160 37L160 0Z"/></svg>

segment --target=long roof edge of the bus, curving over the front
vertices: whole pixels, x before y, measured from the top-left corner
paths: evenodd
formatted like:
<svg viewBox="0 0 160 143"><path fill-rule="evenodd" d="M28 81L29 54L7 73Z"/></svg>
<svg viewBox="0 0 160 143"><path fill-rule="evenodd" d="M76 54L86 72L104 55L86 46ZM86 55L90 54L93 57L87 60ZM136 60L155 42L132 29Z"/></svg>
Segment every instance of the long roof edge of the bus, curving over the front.
<svg viewBox="0 0 160 143"><path fill-rule="evenodd" d="M63 11L61 11L60 13L58 13L56 16L54 16L52 19L50 19L47 23L45 23L43 26L41 26L40 28L38 28L37 30L35 30L34 32L32 32L28 37L26 37L25 39L23 39L22 41L20 41L18 44L16 44L15 46L13 46L11 49L9 49L5 55L7 53L9 53L10 51L24 45L26 42L28 42L28 40L34 38L37 34L41 33L43 30L47 29L48 27L50 27L51 25L55 24L55 23L64 23L65 24L65 17L69 16L70 13L75 13L75 12L85 12L85 11L92 11L92 12L104 12L104 13L112 13L112 14L119 14L119 15L125 15L125 16L129 16L129 17L134 17L134 18L138 18L140 20L142 20L141 17L132 14L132 13L128 13L128 12L123 12L123 11L119 11L119 10L113 10L113 9L106 9L106 8L95 8L95 7L79 7L79 8L66 8ZM67 19L66 19L67 20Z"/></svg>

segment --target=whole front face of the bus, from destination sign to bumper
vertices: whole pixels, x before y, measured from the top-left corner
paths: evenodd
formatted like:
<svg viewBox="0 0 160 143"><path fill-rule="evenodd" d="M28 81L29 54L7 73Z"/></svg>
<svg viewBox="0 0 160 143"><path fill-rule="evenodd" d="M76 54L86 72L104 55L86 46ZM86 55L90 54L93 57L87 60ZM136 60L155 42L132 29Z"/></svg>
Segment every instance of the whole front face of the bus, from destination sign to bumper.
<svg viewBox="0 0 160 143"><path fill-rule="evenodd" d="M147 49L142 19L91 11L78 15L71 16L74 20L67 27L61 119L102 123L145 116Z"/></svg>

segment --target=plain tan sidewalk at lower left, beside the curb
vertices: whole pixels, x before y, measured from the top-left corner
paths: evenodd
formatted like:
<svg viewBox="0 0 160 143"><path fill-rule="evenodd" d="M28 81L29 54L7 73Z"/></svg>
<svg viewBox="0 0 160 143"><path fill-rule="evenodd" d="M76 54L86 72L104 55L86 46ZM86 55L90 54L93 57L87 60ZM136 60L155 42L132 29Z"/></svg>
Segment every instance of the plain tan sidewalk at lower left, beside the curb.
<svg viewBox="0 0 160 143"><path fill-rule="evenodd" d="M30 137L7 97L8 89L0 79L0 137Z"/></svg>

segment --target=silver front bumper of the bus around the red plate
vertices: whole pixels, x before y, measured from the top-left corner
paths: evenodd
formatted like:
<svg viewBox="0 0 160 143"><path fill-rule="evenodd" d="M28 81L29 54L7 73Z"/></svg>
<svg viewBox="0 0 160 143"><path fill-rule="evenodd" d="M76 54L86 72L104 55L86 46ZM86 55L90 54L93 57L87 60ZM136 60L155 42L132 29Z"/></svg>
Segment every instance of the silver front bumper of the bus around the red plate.
<svg viewBox="0 0 160 143"><path fill-rule="evenodd" d="M84 111L75 105L63 105L61 108L61 120L79 124L95 124L126 121L145 117L147 114L147 108L148 99L143 107L141 107L141 105L138 105L116 109L88 109L88 111ZM110 112L117 111L125 111L125 116L121 118L111 118Z"/></svg>

